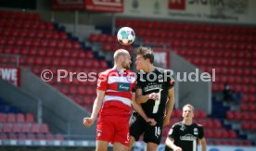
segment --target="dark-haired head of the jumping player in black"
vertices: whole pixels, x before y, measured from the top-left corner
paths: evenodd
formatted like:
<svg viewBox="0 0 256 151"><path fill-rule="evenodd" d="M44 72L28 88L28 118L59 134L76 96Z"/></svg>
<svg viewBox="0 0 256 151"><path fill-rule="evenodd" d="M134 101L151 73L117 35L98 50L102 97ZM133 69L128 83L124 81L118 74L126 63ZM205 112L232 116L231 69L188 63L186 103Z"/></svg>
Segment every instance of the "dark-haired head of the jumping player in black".
<svg viewBox="0 0 256 151"><path fill-rule="evenodd" d="M140 46L136 50L136 69L146 70L154 63L153 50L149 47Z"/></svg>

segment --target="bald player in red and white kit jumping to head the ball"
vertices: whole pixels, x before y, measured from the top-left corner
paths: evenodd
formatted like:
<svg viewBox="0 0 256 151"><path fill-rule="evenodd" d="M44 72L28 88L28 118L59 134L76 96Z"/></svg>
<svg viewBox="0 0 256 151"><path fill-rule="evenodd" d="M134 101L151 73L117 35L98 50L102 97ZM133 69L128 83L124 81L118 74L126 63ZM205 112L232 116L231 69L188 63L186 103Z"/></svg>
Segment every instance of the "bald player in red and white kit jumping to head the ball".
<svg viewBox="0 0 256 151"><path fill-rule="evenodd" d="M90 118L84 118L86 127L93 125L99 112L96 125L96 151L108 149L109 142L113 149L126 151L129 146L129 118L132 107L150 125L156 121L148 119L140 105L134 101L135 74L128 70L132 63L128 51L119 49L114 53L115 65L99 75L97 96Z"/></svg>

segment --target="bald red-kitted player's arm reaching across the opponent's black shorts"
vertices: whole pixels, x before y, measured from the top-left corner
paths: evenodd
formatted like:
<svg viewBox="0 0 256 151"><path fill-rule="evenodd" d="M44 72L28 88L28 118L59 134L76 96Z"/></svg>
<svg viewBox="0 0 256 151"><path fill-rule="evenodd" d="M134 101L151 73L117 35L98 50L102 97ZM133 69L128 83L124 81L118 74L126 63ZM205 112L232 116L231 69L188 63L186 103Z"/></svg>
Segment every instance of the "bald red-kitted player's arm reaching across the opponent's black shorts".
<svg viewBox="0 0 256 151"><path fill-rule="evenodd" d="M146 120L151 126L155 126L157 124L156 120L149 119L145 114L144 110L142 109L141 105L135 101L135 93L133 93L132 97L132 105L134 110L144 119Z"/></svg>

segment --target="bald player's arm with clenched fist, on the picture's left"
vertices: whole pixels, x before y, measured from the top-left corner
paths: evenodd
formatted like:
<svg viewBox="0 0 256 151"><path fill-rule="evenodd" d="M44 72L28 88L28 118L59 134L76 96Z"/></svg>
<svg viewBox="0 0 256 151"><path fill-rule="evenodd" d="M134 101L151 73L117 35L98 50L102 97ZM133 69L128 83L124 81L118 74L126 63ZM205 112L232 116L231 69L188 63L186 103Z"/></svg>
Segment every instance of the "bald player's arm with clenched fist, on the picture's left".
<svg viewBox="0 0 256 151"><path fill-rule="evenodd" d="M102 107L103 99L104 99L105 91L102 90L96 90L96 100L93 107L93 112L90 118L84 118L83 119L83 125L86 127L91 127L97 117L97 114Z"/></svg>

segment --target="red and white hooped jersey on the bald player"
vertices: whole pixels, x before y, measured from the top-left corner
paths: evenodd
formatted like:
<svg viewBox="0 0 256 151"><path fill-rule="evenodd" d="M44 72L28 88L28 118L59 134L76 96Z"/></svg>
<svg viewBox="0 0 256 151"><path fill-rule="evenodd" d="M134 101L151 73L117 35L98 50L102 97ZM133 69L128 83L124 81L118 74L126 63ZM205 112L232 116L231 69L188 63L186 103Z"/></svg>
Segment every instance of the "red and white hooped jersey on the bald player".
<svg viewBox="0 0 256 151"><path fill-rule="evenodd" d="M105 91L100 115L127 116L132 111L135 74L130 70L108 69L99 75L97 89Z"/></svg>

